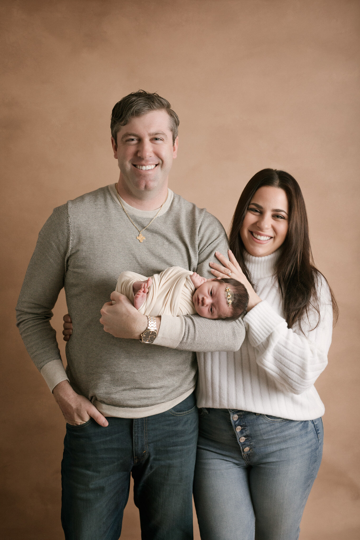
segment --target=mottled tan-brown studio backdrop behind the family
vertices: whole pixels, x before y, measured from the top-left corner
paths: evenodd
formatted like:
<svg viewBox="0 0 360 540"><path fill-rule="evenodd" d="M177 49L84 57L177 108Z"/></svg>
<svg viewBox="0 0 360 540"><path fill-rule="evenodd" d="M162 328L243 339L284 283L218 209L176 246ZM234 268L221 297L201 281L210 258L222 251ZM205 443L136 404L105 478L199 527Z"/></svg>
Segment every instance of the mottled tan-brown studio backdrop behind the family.
<svg viewBox="0 0 360 540"><path fill-rule="evenodd" d="M300 537L359 538L359 2L2 0L0 7L2 538L63 538L64 421L25 351L14 308L53 207L117 180L110 113L139 88L168 98L181 120L170 187L226 228L261 168L284 168L302 187L315 261L341 318L316 383L326 407L324 457ZM61 294L59 332L64 313ZM121 538L140 538L132 500Z"/></svg>

